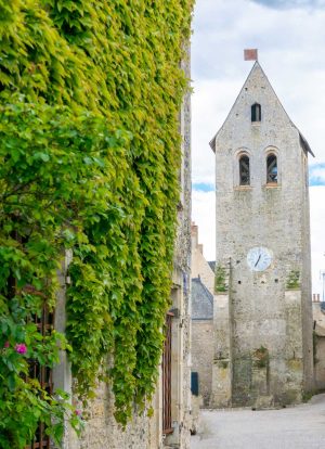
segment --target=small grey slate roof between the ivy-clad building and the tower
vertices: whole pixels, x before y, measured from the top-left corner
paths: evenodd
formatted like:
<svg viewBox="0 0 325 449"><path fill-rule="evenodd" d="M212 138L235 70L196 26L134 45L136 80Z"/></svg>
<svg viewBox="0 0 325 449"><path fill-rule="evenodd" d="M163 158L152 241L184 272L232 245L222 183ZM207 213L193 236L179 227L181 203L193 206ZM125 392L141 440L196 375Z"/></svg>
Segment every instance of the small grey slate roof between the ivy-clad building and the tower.
<svg viewBox="0 0 325 449"><path fill-rule="evenodd" d="M192 320L212 320L213 296L200 278L192 279Z"/></svg>

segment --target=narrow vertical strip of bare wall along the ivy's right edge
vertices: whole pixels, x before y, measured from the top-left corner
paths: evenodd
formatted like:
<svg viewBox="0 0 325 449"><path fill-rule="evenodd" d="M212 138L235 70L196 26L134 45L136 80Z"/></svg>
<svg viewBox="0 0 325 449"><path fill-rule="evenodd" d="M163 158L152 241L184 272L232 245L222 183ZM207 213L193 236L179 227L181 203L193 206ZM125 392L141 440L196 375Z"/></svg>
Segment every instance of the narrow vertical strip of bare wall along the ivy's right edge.
<svg viewBox="0 0 325 449"><path fill-rule="evenodd" d="M191 78L191 54L182 66ZM164 446L190 449L191 418L191 93L184 98L180 113L182 134L181 195L178 210L179 226L176 241L173 293L171 296L176 317L172 319L172 427L173 433L164 437Z"/></svg>

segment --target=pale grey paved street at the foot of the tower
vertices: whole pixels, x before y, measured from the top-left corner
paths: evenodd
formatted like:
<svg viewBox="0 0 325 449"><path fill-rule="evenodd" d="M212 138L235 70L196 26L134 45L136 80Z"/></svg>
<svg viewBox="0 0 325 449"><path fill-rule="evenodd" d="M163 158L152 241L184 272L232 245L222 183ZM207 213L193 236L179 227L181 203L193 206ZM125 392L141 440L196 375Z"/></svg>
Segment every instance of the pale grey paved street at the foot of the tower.
<svg viewBox="0 0 325 449"><path fill-rule="evenodd" d="M203 410L191 449L324 449L325 394L281 410Z"/></svg>

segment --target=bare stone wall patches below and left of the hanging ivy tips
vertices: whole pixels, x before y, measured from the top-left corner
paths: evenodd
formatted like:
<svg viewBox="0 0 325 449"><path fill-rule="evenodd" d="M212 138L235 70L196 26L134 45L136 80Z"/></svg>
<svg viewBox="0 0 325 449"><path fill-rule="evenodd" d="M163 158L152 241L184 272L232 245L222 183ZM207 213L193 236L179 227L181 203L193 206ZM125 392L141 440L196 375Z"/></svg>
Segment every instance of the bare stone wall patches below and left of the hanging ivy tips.
<svg viewBox="0 0 325 449"><path fill-rule="evenodd" d="M62 271L58 274L61 288L57 293L54 326L60 332L65 331L66 272L72 257L73 254L67 252L62 264ZM55 365L53 370L53 382L54 389L61 388L72 394L74 405L82 410L82 406L78 405L73 396L70 364L65 351L61 352L61 363ZM153 407L155 410L153 418L150 419L146 413L140 415L134 411L132 422L123 431L114 418L114 395L107 384L100 383L95 399L89 402L86 410L82 410L84 416L82 435L78 438L76 433L67 425L62 447L63 449L160 449L164 440L160 424L160 385L157 386Z"/></svg>

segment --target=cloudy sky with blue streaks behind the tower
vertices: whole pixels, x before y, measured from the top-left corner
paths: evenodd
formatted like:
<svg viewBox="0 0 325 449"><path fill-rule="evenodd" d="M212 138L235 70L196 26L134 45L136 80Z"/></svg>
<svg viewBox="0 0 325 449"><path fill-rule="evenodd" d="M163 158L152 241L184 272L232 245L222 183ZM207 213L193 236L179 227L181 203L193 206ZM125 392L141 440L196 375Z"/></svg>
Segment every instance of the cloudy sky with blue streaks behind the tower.
<svg viewBox="0 0 325 449"><path fill-rule="evenodd" d="M196 0L192 36L192 217L207 260L216 257L214 157L220 129L253 62L308 140L313 293L325 271L325 0Z"/></svg>

